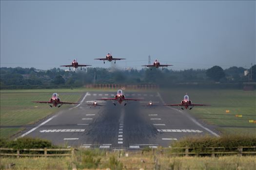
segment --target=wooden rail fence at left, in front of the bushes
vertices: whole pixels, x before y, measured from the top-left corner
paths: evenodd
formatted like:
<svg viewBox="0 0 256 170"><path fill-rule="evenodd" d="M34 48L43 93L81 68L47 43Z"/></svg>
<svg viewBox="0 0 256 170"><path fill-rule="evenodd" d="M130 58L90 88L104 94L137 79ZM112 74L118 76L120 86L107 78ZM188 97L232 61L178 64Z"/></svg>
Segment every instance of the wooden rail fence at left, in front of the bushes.
<svg viewBox="0 0 256 170"><path fill-rule="evenodd" d="M74 155L74 148L70 149L13 149L13 148L0 148L0 155L1 156L73 156ZM5 151L5 153L2 153ZM51 153L48 153L51 151ZM7 153L6 153L7 152ZM30 153L36 152L36 153ZM53 152L65 152L65 153L53 153ZM70 152L70 153L66 153Z"/></svg>

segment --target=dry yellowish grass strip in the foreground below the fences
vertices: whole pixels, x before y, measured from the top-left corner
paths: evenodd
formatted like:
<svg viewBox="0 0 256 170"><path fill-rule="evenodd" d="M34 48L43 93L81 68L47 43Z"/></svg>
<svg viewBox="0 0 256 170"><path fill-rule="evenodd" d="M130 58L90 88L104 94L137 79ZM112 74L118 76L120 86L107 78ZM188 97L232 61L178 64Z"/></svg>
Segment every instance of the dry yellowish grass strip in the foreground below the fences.
<svg viewBox="0 0 256 170"><path fill-rule="evenodd" d="M122 164L120 170L255 170L255 156L221 156L221 157L170 157L167 155L156 155L153 153L131 153L128 157L121 156L118 153L109 153L106 155L93 156L93 159L101 158L97 170L106 170L113 167L110 163L110 157L114 156L116 164ZM6 169L8 164L15 163L15 170L71 170L75 165L78 170L87 170L89 163L85 161L86 155L55 158L0 158L1 170ZM143 161L142 161L143 160ZM155 160L158 160L157 163ZM73 162L73 164L72 164ZM86 165L87 164L87 165ZM95 168L93 168L95 169ZM113 168L114 170L115 168ZM111 169L112 170L112 169ZM119 170L119 169L116 169Z"/></svg>

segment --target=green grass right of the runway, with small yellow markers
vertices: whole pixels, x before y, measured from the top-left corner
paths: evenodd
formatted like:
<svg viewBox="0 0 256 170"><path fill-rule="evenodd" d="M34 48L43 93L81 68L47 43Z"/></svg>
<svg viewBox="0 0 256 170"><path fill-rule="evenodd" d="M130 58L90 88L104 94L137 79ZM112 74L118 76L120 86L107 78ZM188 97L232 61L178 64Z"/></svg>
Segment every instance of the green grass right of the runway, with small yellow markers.
<svg viewBox="0 0 256 170"><path fill-rule="evenodd" d="M181 88L160 91L166 103L180 103L186 93L192 103L211 104L211 106L197 106L187 110L197 119L217 125L218 130L223 134L256 135L256 123L249 122L256 120L256 91ZM226 113L226 110L230 112Z"/></svg>

